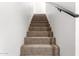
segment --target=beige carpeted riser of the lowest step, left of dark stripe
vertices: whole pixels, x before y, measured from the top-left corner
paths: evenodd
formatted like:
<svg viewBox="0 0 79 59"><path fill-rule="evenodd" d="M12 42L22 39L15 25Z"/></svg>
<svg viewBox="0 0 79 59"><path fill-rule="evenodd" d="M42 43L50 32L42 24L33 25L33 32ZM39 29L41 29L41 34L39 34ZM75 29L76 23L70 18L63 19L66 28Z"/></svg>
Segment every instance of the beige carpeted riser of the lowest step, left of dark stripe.
<svg viewBox="0 0 79 59"><path fill-rule="evenodd" d="M21 56L52 56L52 47L22 47Z"/></svg>

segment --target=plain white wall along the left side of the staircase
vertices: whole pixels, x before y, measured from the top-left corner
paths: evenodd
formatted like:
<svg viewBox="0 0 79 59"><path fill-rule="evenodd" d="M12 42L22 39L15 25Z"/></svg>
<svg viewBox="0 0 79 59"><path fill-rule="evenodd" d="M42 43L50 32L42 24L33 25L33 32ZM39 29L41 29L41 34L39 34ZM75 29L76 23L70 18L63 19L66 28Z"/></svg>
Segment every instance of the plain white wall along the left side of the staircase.
<svg viewBox="0 0 79 59"><path fill-rule="evenodd" d="M32 13L32 3L0 3L0 56L20 55Z"/></svg>

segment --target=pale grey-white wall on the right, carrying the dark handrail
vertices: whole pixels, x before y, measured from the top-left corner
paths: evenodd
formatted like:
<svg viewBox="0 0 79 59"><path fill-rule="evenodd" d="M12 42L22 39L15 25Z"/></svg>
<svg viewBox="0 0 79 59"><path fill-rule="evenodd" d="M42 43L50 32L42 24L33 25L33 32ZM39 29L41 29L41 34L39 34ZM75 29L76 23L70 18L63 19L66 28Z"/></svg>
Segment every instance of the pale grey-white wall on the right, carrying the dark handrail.
<svg viewBox="0 0 79 59"><path fill-rule="evenodd" d="M71 11L75 9L75 3L72 2L57 4ZM46 4L46 12L57 44L60 46L60 55L75 55L75 19L64 12L60 13L53 5L48 3Z"/></svg>

